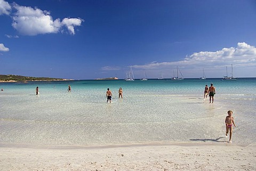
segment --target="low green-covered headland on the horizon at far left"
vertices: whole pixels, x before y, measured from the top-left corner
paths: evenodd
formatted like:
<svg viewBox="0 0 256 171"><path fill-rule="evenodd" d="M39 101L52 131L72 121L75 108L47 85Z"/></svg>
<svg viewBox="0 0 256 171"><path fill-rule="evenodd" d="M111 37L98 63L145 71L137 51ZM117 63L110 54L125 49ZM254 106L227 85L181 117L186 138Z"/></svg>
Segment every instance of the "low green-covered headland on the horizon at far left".
<svg viewBox="0 0 256 171"><path fill-rule="evenodd" d="M65 80L62 78L48 78L48 77L25 77L17 75L0 75L0 82L25 82L25 81L54 81L54 80Z"/></svg>

